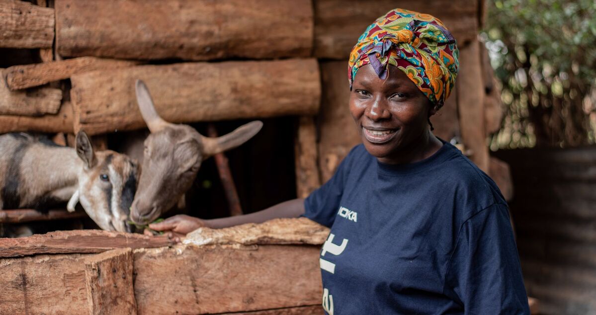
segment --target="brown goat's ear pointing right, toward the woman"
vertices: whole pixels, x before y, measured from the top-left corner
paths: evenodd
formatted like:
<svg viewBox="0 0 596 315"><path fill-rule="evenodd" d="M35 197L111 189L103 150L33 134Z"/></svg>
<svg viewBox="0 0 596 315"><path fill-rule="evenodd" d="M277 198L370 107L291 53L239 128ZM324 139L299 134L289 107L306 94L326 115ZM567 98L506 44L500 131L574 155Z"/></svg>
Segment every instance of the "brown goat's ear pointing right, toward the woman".
<svg viewBox="0 0 596 315"><path fill-rule="evenodd" d="M250 123L243 124L227 135L218 138L201 136L201 142L203 143L203 157L210 157L211 155L235 148L244 142L249 141L250 138L253 138L253 136L259 132L261 127L263 127L263 122L254 120Z"/></svg>

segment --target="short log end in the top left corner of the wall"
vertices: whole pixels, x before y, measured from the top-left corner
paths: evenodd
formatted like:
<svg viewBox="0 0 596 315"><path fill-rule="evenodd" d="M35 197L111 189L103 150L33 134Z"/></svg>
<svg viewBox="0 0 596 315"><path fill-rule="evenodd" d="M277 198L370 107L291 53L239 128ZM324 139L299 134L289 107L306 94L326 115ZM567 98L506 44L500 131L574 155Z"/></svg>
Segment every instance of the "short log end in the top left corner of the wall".
<svg viewBox="0 0 596 315"><path fill-rule="evenodd" d="M0 1L0 47L48 48L54 41L54 9L17 0Z"/></svg>

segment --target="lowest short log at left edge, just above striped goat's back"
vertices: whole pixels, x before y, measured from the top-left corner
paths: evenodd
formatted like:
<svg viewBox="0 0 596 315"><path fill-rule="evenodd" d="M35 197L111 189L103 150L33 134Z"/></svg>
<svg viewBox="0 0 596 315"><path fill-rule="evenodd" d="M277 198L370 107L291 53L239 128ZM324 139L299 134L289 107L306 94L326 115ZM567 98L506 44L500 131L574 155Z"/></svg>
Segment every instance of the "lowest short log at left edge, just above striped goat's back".
<svg viewBox="0 0 596 315"><path fill-rule="evenodd" d="M0 133L7 132L73 132L73 110L70 102L60 106L57 114L44 116L0 115Z"/></svg>

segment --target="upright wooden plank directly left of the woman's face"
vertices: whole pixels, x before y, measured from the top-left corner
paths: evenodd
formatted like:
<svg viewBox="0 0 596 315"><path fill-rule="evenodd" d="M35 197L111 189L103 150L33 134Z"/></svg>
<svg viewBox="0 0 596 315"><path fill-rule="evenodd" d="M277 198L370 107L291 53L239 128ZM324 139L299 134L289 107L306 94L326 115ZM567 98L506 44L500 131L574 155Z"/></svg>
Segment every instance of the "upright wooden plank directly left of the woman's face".
<svg viewBox="0 0 596 315"><path fill-rule="evenodd" d="M321 63L321 80L324 89L318 115L318 162L324 183L333 176L350 149L362 140L348 107L347 60Z"/></svg>

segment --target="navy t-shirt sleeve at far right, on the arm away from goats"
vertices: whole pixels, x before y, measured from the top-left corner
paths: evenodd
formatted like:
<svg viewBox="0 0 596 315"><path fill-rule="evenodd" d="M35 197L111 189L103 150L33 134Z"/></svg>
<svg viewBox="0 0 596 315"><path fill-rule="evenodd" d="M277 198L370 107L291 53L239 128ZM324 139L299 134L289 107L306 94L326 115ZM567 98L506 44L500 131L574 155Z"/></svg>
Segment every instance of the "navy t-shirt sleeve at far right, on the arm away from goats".
<svg viewBox="0 0 596 315"><path fill-rule="evenodd" d="M465 314L530 314L507 206L494 204L462 224L444 292Z"/></svg>

